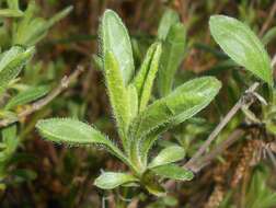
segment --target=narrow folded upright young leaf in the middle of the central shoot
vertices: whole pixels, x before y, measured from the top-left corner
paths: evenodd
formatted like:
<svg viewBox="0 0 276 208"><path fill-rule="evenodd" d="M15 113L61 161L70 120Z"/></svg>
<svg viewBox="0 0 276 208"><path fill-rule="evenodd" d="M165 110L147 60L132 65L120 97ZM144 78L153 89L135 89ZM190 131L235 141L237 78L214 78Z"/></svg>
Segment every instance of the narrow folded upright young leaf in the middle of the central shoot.
<svg viewBox="0 0 276 208"><path fill-rule="evenodd" d="M153 81L159 68L161 51L162 48L160 43L151 45L151 47L147 51L141 68L134 80L139 99L139 112L145 109L149 102Z"/></svg>

